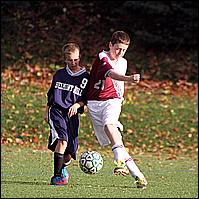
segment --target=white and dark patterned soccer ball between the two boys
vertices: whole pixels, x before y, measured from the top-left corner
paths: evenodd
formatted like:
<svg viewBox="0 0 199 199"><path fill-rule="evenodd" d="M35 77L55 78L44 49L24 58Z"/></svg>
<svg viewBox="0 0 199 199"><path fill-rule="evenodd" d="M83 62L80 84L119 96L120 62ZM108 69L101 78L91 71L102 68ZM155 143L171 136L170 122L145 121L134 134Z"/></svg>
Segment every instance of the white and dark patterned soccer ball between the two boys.
<svg viewBox="0 0 199 199"><path fill-rule="evenodd" d="M84 173L98 173L103 167L102 156L96 151L86 151L80 156L79 166Z"/></svg>

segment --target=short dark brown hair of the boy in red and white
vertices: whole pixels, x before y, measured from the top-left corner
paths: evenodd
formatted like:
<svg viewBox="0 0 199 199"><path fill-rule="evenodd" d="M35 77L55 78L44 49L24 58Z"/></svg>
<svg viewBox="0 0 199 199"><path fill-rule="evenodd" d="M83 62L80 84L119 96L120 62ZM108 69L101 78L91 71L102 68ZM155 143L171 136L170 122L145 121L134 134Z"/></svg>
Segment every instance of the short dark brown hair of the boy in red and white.
<svg viewBox="0 0 199 199"><path fill-rule="evenodd" d="M112 43L112 45L117 44L117 43L129 45L130 44L130 37L124 31L115 31L112 34L110 42Z"/></svg>

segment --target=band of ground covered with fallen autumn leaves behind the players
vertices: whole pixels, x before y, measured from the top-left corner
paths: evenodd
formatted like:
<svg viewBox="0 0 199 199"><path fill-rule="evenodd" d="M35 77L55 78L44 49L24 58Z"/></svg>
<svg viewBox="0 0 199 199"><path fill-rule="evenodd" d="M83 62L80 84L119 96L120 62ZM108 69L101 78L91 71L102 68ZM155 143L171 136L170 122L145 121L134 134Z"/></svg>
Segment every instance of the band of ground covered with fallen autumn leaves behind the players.
<svg viewBox="0 0 199 199"><path fill-rule="evenodd" d="M46 92L54 69L24 64L1 75L1 143L46 149L49 127L44 122ZM198 149L197 83L142 79L126 85L121 114L126 147L133 154L179 154L196 157ZM81 115L80 147L98 143L87 114Z"/></svg>

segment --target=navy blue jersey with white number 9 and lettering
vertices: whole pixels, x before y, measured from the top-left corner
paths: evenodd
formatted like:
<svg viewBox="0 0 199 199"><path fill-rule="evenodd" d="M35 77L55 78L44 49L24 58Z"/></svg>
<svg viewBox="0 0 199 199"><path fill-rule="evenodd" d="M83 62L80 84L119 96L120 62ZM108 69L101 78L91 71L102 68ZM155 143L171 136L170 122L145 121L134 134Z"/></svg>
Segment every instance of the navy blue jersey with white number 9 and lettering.
<svg viewBox="0 0 199 199"><path fill-rule="evenodd" d="M68 67L57 70L47 93L47 105L68 109L76 102L86 103L88 78L89 74L85 68L76 73Z"/></svg>

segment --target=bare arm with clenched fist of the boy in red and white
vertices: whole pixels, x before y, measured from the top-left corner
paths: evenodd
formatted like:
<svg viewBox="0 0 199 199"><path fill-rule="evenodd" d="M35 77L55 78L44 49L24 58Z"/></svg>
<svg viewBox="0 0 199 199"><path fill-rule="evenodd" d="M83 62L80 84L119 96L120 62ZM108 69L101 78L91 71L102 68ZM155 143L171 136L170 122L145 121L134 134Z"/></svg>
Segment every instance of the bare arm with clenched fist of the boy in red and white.
<svg viewBox="0 0 199 199"><path fill-rule="evenodd" d="M133 74L133 75L122 75L120 73L116 73L113 69L109 70L107 74L112 79L119 80L119 81L127 81L132 83L139 83L140 81L140 74Z"/></svg>

